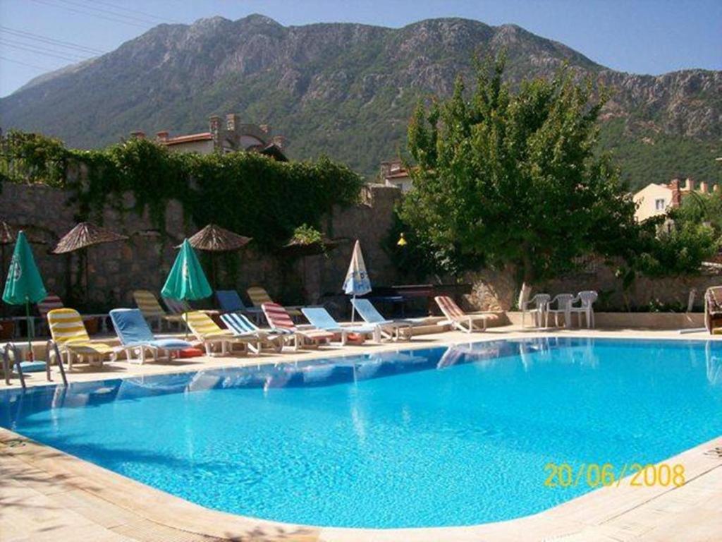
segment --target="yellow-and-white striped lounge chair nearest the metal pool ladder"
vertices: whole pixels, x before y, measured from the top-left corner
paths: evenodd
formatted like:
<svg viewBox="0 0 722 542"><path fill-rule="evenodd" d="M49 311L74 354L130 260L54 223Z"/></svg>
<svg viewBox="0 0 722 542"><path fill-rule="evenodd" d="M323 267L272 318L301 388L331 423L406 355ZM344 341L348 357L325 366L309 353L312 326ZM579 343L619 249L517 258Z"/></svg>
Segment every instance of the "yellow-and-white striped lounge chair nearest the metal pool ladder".
<svg viewBox="0 0 722 542"><path fill-rule="evenodd" d="M66 355L68 369L73 368L74 357L79 362L85 358L97 360L103 365L103 358L116 358L116 350L105 343L90 340L80 313L75 309L53 309L48 312L48 327L53 341L58 345L60 356Z"/></svg>

